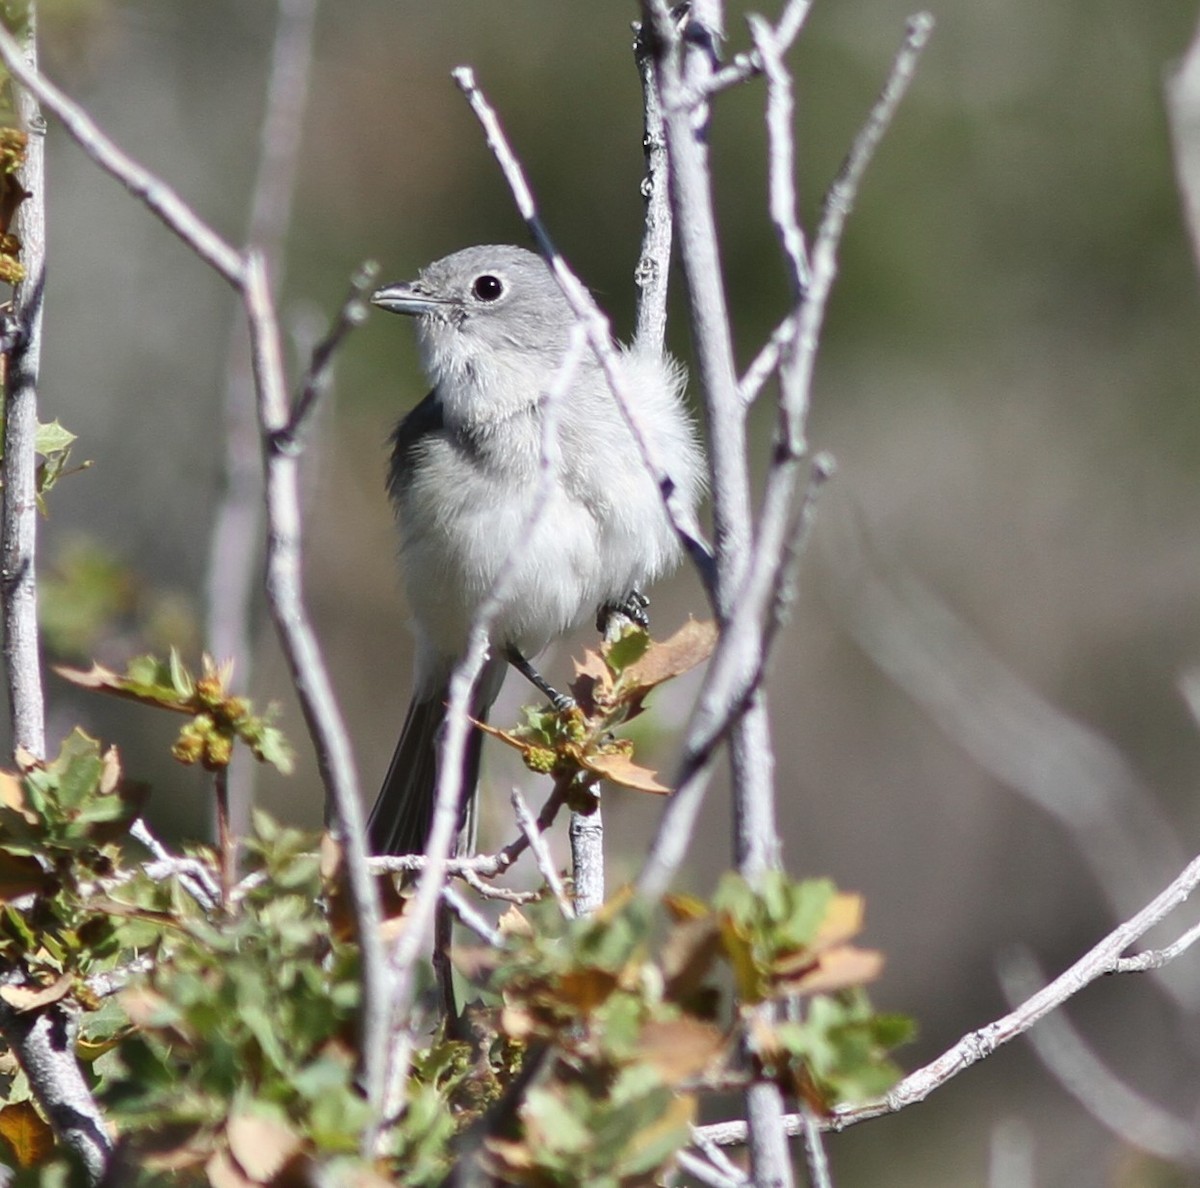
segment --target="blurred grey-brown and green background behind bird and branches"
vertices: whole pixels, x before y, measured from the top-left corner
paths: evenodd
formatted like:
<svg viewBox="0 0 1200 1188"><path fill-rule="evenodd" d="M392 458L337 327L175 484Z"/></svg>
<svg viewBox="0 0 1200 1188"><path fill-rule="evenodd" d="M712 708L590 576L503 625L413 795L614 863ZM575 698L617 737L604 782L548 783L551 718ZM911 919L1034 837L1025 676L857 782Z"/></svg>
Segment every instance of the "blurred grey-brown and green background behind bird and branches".
<svg viewBox="0 0 1200 1188"><path fill-rule="evenodd" d="M728 7L739 49L744 6ZM1200 300L1162 97L1196 6L932 11L932 44L844 246L810 425L838 475L772 684L788 869L866 896L865 938L888 958L872 998L920 1028L899 1054L908 1068L1007 1009L997 962L1014 946L1058 972L1200 835L1200 734L1181 692L1200 665ZM907 14L900 0L814 6L792 55L809 227ZM523 241L449 78L464 62L560 247L628 334L634 16L611 2L324 4L284 253L296 341L311 343L364 259L398 280L470 242ZM72 0L44 25L47 72L240 242L274 4ZM751 83L713 125L743 364L786 301L762 101ZM196 659L238 311L53 122L48 178L43 418L94 463L53 492L44 522L53 659L120 662L172 640ZM671 336L689 359L678 302ZM410 326L373 316L340 356L306 455L310 605L367 797L408 697L385 442L424 394ZM769 402L755 414L760 452ZM695 578L655 592L653 611L661 632L702 616ZM316 773L260 606L256 623L252 692L282 704L301 755L295 778L263 780L260 802L316 826ZM547 661L552 678L569 653ZM695 690L679 684L647 740L665 772ZM499 720L523 692L506 691ZM164 835L206 830L204 780L166 757L174 721L55 677L48 694L56 737L80 721L154 784ZM532 785L503 757L490 772L493 802L514 779ZM617 880L660 805L619 792L605 805ZM728 820L718 780L688 886L707 889L728 864ZM488 836L509 830L496 820ZM1198 1007L1193 954L1169 979L1093 985L1068 1016L1130 1087L1195 1123ZM1104 1129L1024 1040L829 1148L841 1188L1200 1183Z"/></svg>

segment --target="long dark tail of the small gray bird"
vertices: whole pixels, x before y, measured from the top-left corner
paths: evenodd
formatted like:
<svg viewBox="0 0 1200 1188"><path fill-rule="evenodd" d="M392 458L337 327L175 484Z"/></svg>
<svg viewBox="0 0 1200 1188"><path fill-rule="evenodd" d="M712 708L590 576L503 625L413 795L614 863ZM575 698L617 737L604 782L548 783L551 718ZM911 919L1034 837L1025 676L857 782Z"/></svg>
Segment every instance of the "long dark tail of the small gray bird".
<svg viewBox="0 0 1200 1188"><path fill-rule="evenodd" d="M478 689L472 698L470 715L476 721L487 720L487 710L496 698L496 689L491 688L493 684L496 682L485 677L481 682L484 688ZM436 689L428 697L414 700L408 707L396 752L367 821L367 841L373 854L425 852L433 824L438 742L446 716L448 696L445 688ZM482 744L482 731L472 727L462 761L460 829L466 824L475 799Z"/></svg>

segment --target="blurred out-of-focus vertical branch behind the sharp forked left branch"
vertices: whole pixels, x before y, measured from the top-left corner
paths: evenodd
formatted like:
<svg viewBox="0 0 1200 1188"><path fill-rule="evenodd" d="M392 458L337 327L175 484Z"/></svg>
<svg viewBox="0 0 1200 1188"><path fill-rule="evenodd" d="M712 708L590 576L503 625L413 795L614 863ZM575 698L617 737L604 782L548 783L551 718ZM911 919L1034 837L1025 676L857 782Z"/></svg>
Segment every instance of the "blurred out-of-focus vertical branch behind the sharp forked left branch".
<svg viewBox="0 0 1200 1188"><path fill-rule="evenodd" d="M278 0L271 72L259 140L258 174L246 240L263 253L276 289L292 218L300 133L307 106L317 0ZM263 472L254 379L240 325L230 332L226 365L224 493L209 542L205 647L218 660L234 658L246 685L251 676L251 606L259 578ZM229 769L229 827L250 824L256 764L242 748Z"/></svg>

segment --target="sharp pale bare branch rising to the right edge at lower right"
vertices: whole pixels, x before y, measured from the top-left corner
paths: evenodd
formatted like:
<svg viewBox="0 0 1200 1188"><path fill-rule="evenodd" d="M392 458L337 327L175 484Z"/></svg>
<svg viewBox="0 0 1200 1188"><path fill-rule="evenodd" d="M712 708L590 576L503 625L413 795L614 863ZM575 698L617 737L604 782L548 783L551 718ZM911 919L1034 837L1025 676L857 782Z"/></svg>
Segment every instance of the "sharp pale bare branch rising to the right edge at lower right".
<svg viewBox="0 0 1200 1188"><path fill-rule="evenodd" d="M859 1122L869 1122L888 1114L898 1114L910 1105L924 1102L930 1093L953 1080L959 1073L965 1072L980 1060L985 1060L1009 1040L1025 1034L1036 1022L1039 1022L1050 1012L1056 1010L1098 978L1126 970L1139 972L1123 966L1121 954L1183 904L1196 887L1200 887L1200 858L1194 858L1188 863L1180 875L1140 912L1115 928L1074 965L1037 994L1026 998L1014 1010L994 1022L968 1032L936 1060L910 1073L884 1097L864 1105L838 1108L830 1117L822 1120L822 1128L844 1130ZM788 1134L802 1133L804 1115L788 1115L785 1121ZM721 1146L736 1146L746 1140L745 1122L716 1122L697 1129L706 1138L721 1144Z"/></svg>

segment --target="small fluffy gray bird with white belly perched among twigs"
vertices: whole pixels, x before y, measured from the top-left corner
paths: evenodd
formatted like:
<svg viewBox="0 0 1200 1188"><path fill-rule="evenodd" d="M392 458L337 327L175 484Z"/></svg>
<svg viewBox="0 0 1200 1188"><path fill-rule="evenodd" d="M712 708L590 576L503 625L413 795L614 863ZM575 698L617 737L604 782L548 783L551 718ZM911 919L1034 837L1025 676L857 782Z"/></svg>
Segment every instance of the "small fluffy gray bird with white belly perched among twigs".
<svg viewBox="0 0 1200 1188"><path fill-rule="evenodd" d="M389 491L415 635L413 700L368 823L373 853L425 850L448 683L502 569L504 598L470 714L482 721L508 664L529 661L598 608L628 606L680 547L637 443L590 352L558 414L557 467L545 506L542 395L559 376L576 320L546 266L521 247L468 247L389 284L372 301L416 319L433 390L392 436ZM658 350L623 348L625 390L655 456L695 508L703 457L684 408L682 368ZM530 523L533 529L530 530ZM479 775L472 731L462 820Z"/></svg>

